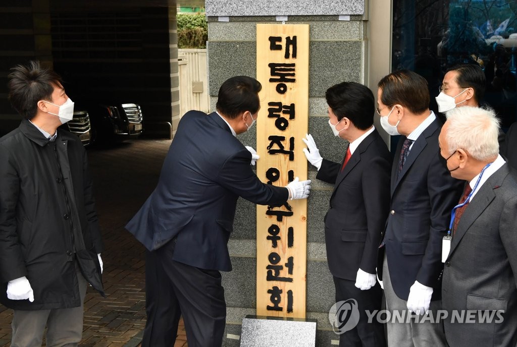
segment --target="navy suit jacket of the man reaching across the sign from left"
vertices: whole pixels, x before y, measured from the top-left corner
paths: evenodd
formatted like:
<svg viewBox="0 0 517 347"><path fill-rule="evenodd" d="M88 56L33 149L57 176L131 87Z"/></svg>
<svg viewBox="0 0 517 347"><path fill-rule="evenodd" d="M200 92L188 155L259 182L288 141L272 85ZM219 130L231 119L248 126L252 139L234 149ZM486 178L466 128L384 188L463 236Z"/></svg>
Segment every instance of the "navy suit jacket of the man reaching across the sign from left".
<svg viewBox="0 0 517 347"><path fill-rule="evenodd" d="M187 112L155 191L126 229L149 250L177 237L175 261L232 270L227 242L237 198L273 206L288 198L286 188L262 183L250 161L251 153L217 113Z"/></svg>

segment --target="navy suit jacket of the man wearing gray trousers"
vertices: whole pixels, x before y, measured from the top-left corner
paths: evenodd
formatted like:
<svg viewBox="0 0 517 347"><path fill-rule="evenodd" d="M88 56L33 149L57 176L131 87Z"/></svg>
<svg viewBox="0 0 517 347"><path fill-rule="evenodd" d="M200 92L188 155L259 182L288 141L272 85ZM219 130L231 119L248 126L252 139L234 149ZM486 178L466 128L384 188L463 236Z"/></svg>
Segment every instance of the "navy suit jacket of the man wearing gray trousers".
<svg viewBox="0 0 517 347"><path fill-rule="evenodd" d="M415 280L433 287L432 299L438 299L442 290L442 239L463 185L450 176L440 155L438 135L441 127L442 123L435 119L420 134L398 178L405 136L401 137L393 160L390 213L384 243L391 285L403 300L407 300Z"/></svg>

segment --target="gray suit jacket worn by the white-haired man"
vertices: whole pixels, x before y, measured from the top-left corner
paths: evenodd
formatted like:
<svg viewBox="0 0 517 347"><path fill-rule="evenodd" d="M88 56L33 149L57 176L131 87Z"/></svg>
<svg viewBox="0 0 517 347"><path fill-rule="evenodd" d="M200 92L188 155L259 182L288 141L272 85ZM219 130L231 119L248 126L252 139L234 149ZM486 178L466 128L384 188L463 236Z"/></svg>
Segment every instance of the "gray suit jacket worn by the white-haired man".
<svg viewBox="0 0 517 347"><path fill-rule="evenodd" d="M442 303L451 347L516 345L516 278L517 172L505 164L468 204L445 262ZM452 322L452 310L473 310L475 323ZM505 313L488 312L496 310ZM480 323L482 311L494 314L492 323Z"/></svg>

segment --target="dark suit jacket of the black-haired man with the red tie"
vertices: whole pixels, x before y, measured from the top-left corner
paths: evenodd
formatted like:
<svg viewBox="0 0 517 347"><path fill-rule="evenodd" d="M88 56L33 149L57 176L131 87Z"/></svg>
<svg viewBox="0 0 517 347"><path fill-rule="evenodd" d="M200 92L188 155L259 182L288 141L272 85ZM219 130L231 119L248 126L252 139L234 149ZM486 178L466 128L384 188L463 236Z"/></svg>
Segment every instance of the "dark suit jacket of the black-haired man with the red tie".
<svg viewBox="0 0 517 347"><path fill-rule="evenodd" d="M317 179L335 183L325 216L327 260L333 276L356 280L375 273L378 245L389 208L391 156L376 130L343 163L323 160Z"/></svg>

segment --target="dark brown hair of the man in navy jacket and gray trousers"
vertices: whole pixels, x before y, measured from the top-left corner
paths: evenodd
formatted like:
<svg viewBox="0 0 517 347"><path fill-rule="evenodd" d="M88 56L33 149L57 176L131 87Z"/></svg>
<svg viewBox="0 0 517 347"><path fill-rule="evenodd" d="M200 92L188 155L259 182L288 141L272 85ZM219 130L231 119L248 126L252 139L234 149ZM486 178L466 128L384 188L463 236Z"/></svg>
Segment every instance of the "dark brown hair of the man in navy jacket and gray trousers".
<svg viewBox="0 0 517 347"><path fill-rule="evenodd" d="M398 70L384 76L379 81L383 91L381 101L384 105L402 105L413 114L421 114L429 108L429 89L425 78L409 70Z"/></svg>

